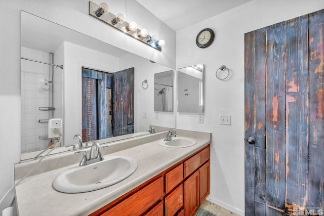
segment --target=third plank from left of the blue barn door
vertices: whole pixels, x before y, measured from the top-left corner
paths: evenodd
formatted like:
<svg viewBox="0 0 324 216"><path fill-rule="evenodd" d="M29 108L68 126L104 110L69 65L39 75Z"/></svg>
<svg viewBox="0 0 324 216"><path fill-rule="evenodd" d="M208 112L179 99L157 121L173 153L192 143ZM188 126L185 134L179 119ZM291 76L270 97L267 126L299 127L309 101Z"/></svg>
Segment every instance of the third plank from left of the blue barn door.
<svg viewBox="0 0 324 216"><path fill-rule="evenodd" d="M285 22L267 27L266 202L285 208Z"/></svg>

